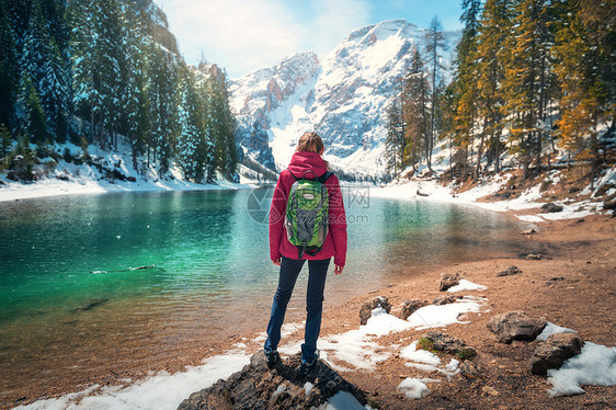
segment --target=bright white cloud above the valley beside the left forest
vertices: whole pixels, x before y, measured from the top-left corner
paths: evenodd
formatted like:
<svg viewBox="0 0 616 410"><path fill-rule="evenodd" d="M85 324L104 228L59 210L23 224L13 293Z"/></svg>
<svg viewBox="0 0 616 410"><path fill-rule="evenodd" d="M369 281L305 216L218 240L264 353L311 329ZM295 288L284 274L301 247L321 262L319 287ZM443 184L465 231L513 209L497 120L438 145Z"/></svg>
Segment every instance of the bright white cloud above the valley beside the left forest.
<svg viewBox="0 0 616 410"><path fill-rule="evenodd" d="M206 59L246 72L294 53L300 38L284 1L159 0L189 62Z"/></svg>

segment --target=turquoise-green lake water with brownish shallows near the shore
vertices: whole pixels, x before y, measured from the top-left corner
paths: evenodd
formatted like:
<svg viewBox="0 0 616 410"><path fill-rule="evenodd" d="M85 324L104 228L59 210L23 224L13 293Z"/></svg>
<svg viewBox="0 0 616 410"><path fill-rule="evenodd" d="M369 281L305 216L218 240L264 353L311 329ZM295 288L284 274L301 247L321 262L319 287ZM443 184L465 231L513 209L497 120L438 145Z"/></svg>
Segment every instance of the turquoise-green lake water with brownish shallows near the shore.
<svg viewBox="0 0 616 410"><path fill-rule="evenodd" d="M66 374L164 361L264 328L277 283L263 224L271 192L0 203L0 397L19 383L50 389ZM327 303L430 267L529 250L512 242L521 225L503 215L343 192L347 265L328 278ZM301 275L292 317L301 318L305 288Z"/></svg>

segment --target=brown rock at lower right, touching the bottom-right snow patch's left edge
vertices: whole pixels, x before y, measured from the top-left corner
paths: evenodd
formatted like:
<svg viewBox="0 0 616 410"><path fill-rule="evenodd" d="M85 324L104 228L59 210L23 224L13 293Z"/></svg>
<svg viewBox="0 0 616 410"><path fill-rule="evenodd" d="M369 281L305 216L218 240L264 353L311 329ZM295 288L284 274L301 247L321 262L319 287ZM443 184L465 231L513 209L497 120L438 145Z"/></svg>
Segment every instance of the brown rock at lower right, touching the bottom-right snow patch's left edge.
<svg viewBox="0 0 616 410"><path fill-rule="evenodd" d="M551 334L541 343L528 361L531 373L546 375L550 368L560 368L566 360L571 358L582 351L584 341L578 333Z"/></svg>

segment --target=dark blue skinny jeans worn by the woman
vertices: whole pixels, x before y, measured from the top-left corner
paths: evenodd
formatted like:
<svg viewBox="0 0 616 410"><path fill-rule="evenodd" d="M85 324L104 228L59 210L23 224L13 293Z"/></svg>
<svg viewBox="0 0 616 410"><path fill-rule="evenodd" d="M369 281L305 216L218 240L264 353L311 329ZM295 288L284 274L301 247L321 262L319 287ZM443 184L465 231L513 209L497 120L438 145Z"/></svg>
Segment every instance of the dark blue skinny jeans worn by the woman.
<svg viewBox="0 0 616 410"><path fill-rule="evenodd" d="M330 259L308 261L308 291L306 292L306 330L301 344L301 360L311 362L317 358L317 340L321 331L321 314L323 311L323 291ZM304 266L305 259L282 258L278 288L274 295L272 316L267 323L265 350L276 350L281 341L281 328L285 320L286 306L293 294L297 276Z"/></svg>

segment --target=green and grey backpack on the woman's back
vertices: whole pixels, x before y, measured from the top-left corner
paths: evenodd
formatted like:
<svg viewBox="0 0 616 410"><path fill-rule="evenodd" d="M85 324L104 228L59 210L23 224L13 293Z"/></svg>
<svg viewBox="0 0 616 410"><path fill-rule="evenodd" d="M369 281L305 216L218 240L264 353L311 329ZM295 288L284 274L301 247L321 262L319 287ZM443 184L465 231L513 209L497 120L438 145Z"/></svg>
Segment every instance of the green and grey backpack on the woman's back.
<svg viewBox="0 0 616 410"><path fill-rule="evenodd" d="M312 171L308 170L301 178L297 178L289 171L295 182L290 186L285 213L287 238L297 247L299 259L304 253L315 257L321 250L329 226L329 193L326 181L333 173L328 171L309 180L306 179L308 172Z"/></svg>

